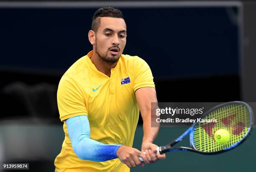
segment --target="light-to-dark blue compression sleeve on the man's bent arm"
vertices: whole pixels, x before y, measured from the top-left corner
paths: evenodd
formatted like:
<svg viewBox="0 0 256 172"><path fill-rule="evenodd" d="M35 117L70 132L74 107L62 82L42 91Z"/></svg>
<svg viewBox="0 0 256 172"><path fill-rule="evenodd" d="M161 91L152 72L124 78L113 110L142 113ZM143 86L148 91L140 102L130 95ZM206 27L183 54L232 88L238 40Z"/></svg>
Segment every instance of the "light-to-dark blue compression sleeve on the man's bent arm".
<svg viewBox="0 0 256 172"><path fill-rule="evenodd" d="M116 152L120 144L103 144L90 139L90 124L87 115L71 117L66 123L77 157L98 162L118 158Z"/></svg>

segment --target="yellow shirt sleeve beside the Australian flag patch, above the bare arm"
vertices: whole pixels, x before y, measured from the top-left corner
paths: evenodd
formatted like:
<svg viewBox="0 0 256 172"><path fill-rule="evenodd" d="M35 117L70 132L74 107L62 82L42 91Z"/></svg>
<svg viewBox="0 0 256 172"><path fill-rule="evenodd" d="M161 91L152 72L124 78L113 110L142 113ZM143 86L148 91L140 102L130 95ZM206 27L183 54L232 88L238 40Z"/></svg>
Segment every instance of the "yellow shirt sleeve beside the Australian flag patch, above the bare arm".
<svg viewBox="0 0 256 172"><path fill-rule="evenodd" d="M153 81L152 72L143 59L136 57L136 61L134 62L134 92L137 89L142 87L153 87L155 88L155 84Z"/></svg>

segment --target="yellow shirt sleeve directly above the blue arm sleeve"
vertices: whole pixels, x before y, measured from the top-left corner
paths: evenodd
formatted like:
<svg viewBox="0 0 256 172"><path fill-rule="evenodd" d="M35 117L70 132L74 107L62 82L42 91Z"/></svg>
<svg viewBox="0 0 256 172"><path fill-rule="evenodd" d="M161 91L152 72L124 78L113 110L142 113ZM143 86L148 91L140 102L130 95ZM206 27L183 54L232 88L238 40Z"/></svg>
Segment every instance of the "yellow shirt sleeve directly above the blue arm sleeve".
<svg viewBox="0 0 256 172"><path fill-rule="evenodd" d="M87 115L82 87L71 76L62 76L57 91L57 102L61 121L78 115Z"/></svg>

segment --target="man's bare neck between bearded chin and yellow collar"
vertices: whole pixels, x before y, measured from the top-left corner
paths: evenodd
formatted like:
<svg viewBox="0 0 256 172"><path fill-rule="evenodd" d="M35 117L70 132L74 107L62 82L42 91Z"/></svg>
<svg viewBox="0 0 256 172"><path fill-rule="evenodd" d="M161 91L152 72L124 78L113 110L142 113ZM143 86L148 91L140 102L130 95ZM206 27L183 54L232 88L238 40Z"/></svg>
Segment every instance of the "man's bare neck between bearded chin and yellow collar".
<svg viewBox="0 0 256 172"><path fill-rule="evenodd" d="M115 66L118 63L118 61L115 63L107 63L104 60L102 60L99 56L97 56L96 53L92 54L91 61L98 71L104 73L107 76L111 75L111 69L115 68Z"/></svg>

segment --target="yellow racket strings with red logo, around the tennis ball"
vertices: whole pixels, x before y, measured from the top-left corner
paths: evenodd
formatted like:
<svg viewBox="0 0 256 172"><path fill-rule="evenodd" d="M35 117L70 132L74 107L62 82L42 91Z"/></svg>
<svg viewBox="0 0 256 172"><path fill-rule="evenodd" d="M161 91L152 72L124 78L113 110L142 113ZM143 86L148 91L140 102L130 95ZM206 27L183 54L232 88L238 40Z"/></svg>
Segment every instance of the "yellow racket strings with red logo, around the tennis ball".
<svg viewBox="0 0 256 172"><path fill-rule="evenodd" d="M217 122L201 122L195 126L192 142L202 152L218 152L235 146L246 137L251 127L250 112L242 104L220 107L204 119L216 119ZM230 140L226 144L215 141L214 134L219 129L226 129L230 134Z"/></svg>

